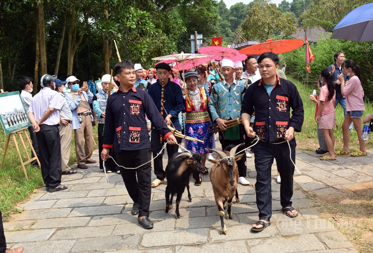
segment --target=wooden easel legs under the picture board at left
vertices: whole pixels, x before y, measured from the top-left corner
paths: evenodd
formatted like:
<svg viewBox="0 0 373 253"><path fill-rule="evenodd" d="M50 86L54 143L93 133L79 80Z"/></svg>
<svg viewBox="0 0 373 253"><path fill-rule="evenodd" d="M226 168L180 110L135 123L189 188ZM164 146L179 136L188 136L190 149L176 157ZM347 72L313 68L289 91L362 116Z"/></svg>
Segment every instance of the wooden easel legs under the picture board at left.
<svg viewBox="0 0 373 253"><path fill-rule="evenodd" d="M0 90L0 93L5 93L2 89ZM40 162L39 162L39 159L38 157L36 156L36 153L35 153L35 150L34 148L32 147L32 144L31 144L31 141L30 141L30 138L28 138L28 135L26 133L26 129L27 127L25 128L22 128L14 133L10 133L8 134L8 139L6 141L6 146L5 146L5 152L4 152L4 156L2 157L2 161L1 161L1 168L4 164L4 161L5 161L5 156L6 156L6 151L8 150L8 145L9 145L9 141L10 141L10 138L13 138L13 141L14 141L14 144L15 144L15 149L17 150L17 153L18 153L18 157L19 157L19 160L21 161L21 165L22 165L22 169L23 169L23 173L26 177L26 180L28 180L28 176L27 176L27 172L26 172L26 169L24 168L25 165L31 163L32 161L37 161L39 167L40 167ZM28 144L30 145L31 147L31 150L32 150L32 153L34 154L34 158L30 158L30 155L28 154L27 152L27 149L26 149L26 145L23 141L23 137L22 137L22 133L26 136L26 139L27 139L27 142ZM22 143L22 146L25 150L25 153L26 153L26 156L27 156L27 161L26 162L23 162L23 159L22 159L22 156L21 156L21 153L19 152L19 148L18 148L18 143L17 143L17 139L15 138L15 135L18 135L19 136L19 139L21 140L21 143Z"/></svg>

